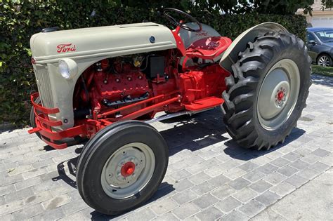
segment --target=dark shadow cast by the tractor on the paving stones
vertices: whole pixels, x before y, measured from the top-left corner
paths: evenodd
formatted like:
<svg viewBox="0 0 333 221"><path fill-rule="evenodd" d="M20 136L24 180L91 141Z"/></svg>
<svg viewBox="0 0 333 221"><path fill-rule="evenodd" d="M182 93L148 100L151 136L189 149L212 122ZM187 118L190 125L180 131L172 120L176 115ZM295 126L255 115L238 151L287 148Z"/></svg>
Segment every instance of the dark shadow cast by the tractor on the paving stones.
<svg viewBox="0 0 333 221"><path fill-rule="evenodd" d="M214 149L214 152L224 152L233 159L249 161L284 147L305 133L304 130L294 128L284 144L279 144L269 151L244 149L230 139L223 124L222 117L223 114L221 109L216 108L204 113L195 114L194 116L178 116L174 119L164 120L161 122L162 124L159 123L157 126L159 133L162 134L164 140L166 140L169 145L169 156L175 154L187 154L184 152L185 149L195 152L211 146L209 148ZM79 154L81 149L82 147L78 147L75 149L75 152ZM57 166L59 176L53 178L53 180L61 179L71 187L77 189L75 166L77 165L78 158L79 156L70 159L69 161L59 163ZM144 208L153 201L162 199L169 193L174 192L174 190L173 185L170 185L168 182L162 182L157 192L149 201L145 202L141 208ZM90 214L92 220L110 220L114 218L121 219L122 217L129 215L129 213L118 216L109 216L93 211Z"/></svg>

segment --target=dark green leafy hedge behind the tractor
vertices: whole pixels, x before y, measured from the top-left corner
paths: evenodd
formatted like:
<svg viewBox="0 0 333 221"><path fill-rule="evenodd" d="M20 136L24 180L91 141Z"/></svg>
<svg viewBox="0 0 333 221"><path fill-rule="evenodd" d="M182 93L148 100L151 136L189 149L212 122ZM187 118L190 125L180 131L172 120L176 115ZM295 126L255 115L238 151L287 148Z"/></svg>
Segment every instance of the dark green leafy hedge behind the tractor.
<svg viewBox="0 0 333 221"><path fill-rule="evenodd" d="M143 20L169 25L157 4L144 9L124 6L119 2L0 1L0 124L22 126L28 123L29 95L37 90L30 64L29 40L32 34L40 32L44 27L72 29ZM202 23L211 25L223 36L232 39L245 29L268 21L284 25L289 32L303 39L306 36L306 20L301 15L220 15L218 11L211 9L207 12L207 9L202 10L199 6L191 6L190 12Z"/></svg>

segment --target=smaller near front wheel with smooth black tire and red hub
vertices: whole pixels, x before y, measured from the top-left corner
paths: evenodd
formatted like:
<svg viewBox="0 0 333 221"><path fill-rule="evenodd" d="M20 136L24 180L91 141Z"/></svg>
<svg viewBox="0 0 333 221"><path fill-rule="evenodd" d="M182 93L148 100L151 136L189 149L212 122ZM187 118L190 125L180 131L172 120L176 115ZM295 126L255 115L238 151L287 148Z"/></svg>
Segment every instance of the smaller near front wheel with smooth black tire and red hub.
<svg viewBox="0 0 333 221"><path fill-rule="evenodd" d="M113 123L84 147L77 187L100 213L115 215L150 199L164 178L168 147L155 128L141 121Z"/></svg>

